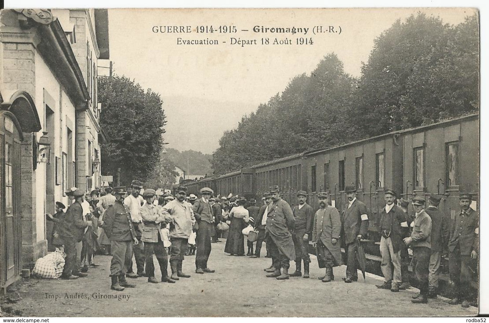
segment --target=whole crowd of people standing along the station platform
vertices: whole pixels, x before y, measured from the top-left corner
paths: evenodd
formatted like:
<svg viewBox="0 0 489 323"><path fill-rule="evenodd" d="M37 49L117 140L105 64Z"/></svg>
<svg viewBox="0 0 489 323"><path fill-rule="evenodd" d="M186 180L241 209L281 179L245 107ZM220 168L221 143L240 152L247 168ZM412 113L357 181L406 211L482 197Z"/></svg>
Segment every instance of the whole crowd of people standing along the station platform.
<svg viewBox="0 0 489 323"><path fill-rule="evenodd" d="M158 283L153 254L159 264L161 282L175 283L190 277L182 271L184 256L189 254L195 254L196 274L214 273L208 266L211 243L220 242L222 232L227 231L224 252L231 256L244 256L247 241L246 255L259 258L263 242L266 243L266 257L271 258L270 267L265 269L267 277L309 278L311 242L319 268L325 269L324 275L318 277L321 281L334 280L333 267L342 264L341 245L347 254L343 281L358 280L358 263L362 260L359 257L364 257L359 253L360 241L367 238L369 212L356 198L354 186L345 187L348 204L341 213L331 206L326 192L317 194L316 211L308 205L308 193L302 190L297 192L298 204L291 208L280 197L277 185L263 195L261 206L256 206L254 199L215 195L208 187L200 190L200 198L187 195L183 185L178 186L175 196L158 191L143 189L137 180L128 189L107 187L103 194L98 190L85 194L76 187L67 191L73 199L67 211L64 212L66 207L62 203L56 202L56 213L47 214L54 223L48 242L51 248L63 248L66 253L62 278L88 276L89 267L98 267L94 252L112 255L111 289L116 291L135 287L126 278L148 277L148 282ZM420 289L412 302L426 303L428 298L437 298L441 259L448 254L450 281L456 291L449 303L468 307L479 241L479 216L470 208L472 196L460 194L460 211L451 221L438 208L442 199L439 195L430 195L428 201L416 196L408 202L398 200L394 190L385 189L384 199L385 207L378 221L384 282L377 287L392 292L411 287L410 249ZM408 215L409 203L414 209L413 216ZM249 230L244 230L246 227ZM256 239L246 239L250 230ZM76 245L80 242L78 259ZM295 271L289 273L291 260L295 262Z"/></svg>

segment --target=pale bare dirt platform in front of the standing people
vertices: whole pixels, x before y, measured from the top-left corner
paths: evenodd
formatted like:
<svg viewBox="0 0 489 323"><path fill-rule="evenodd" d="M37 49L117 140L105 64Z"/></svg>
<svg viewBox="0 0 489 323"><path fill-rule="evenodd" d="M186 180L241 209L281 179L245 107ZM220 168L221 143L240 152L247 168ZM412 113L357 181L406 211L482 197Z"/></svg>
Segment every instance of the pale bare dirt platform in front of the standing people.
<svg viewBox="0 0 489 323"><path fill-rule="evenodd" d="M345 284L345 266L334 268L335 280L317 279L323 270L312 256L311 278L265 277L269 258L229 256L225 239L212 244L209 267L214 274L195 274L195 256L186 256L183 271L191 278L175 284L130 279L136 288L110 289L111 256L96 256L101 266L77 280L27 279L7 295L1 308L23 317L284 317L284 316L474 316L477 308L449 305L446 300L412 304L418 290L392 293L379 290L381 277L367 274L366 281ZM265 254L265 246L262 249ZM155 263L156 259L155 259ZM157 265L156 265L157 266ZM135 265L134 265L135 267ZM291 270L295 269L293 261ZM156 267L159 280L159 268ZM361 277L361 274L359 275ZM112 298L109 298L112 297ZM118 298L113 298L118 297Z"/></svg>

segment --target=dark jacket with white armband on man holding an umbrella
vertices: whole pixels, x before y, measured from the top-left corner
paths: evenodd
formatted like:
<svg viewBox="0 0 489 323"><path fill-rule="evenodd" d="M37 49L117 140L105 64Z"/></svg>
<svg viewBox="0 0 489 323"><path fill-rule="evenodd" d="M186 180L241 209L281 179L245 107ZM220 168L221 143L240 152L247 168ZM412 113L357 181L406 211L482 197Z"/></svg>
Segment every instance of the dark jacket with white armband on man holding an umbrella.
<svg viewBox="0 0 489 323"><path fill-rule="evenodd" d="M358 234L365 237L368 229L368 214L365 204L358 199L353 202L350 208L347 204L343 211L341 223L345 232L346 244L354 242Z"/></svg>

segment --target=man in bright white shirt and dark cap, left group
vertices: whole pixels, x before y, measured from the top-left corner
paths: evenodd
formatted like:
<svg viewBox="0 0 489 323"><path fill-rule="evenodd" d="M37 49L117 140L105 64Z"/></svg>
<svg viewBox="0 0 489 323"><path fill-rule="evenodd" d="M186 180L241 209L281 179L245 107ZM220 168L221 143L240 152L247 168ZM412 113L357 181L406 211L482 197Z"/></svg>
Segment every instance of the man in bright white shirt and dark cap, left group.
<svg viewBox="0 0 489 323"><path fill-rule="evenodd" d="M133 272L133 258L131 257L131 262L127 267L127 277L137 278L146 276L144 273L144 260L146 259L144 255L144 243L141 242L141 228L139 226L143 223L141 218L141 202L139 200L139 191L143 188L143 184L139 181L134 180L131 182L131 194L124 199L124 204L129 208L131 212L131 219L133 220L133 228L136 232L136 238L139 243L134 246L133 254L136 259L137 275Z"/></svg>

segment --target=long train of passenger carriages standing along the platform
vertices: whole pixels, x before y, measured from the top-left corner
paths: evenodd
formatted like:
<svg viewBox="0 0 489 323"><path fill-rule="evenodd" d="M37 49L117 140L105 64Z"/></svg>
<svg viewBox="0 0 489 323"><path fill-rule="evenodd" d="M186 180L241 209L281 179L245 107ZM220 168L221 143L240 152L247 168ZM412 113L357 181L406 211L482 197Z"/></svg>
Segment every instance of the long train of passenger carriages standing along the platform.
<svg viewBox="0 0 489 323"><path fill-rule="evenodd" d="M460 192L471 193L472 208L478 209L479 115L305 151L183 185L189 194L197 195L200 188L210 187L221 196L232 193L257 200L271 185L279 185L282 198L291 206L297 203L295 193L305 190L313 208L318 208L316 193L325 191L340 212L348 201L345 186L355 185L357 198L366 204L370 215L367 251L378 260L384 188L394 189L398 198L409 201L415 195L427 199L430 194L443 194L439 208L445 221L460 211ZM408 212L414 215L411 204Z"/></svg>

